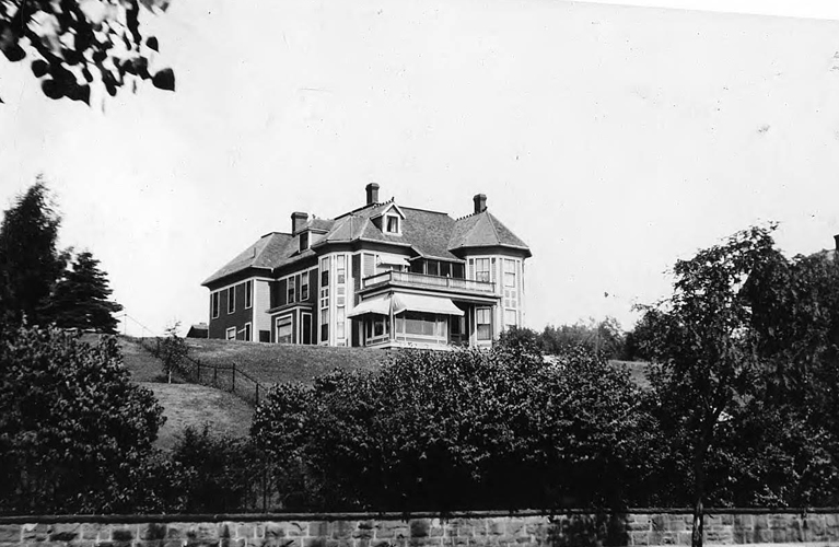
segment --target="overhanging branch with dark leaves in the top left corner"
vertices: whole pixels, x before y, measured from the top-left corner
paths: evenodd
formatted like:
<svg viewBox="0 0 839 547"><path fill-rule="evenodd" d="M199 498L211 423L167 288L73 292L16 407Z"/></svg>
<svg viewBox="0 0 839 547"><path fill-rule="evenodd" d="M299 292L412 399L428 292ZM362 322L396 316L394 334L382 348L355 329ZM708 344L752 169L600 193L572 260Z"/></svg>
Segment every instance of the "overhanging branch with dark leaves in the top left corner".
<svg viewBox="0 0 839 547"><path fill-rule="evenodd" d="M175 89L172 69L152 74L158 39L143 39L140 5L165 11L170 0L9 0L0 2L0 51L11 62L33 57L32 72L49 98L90 104L91 85L116 95L151 80ZM2 101L0 101L2 102Z"/></svg>

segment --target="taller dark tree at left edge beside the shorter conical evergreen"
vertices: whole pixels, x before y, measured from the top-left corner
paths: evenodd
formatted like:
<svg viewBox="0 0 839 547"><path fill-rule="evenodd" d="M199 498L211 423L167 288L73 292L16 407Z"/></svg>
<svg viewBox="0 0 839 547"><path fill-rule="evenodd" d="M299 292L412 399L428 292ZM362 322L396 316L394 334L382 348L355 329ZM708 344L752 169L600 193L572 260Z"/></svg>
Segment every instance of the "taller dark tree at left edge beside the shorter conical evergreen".
<svg viewBox="0 0 839 547"><path fill-rule="evenodd" d="M2 5L0 3L0 5ZM43 178L3 214L0 224L0 323L45 323L66 256L56 248L60 218Z"/></svg>

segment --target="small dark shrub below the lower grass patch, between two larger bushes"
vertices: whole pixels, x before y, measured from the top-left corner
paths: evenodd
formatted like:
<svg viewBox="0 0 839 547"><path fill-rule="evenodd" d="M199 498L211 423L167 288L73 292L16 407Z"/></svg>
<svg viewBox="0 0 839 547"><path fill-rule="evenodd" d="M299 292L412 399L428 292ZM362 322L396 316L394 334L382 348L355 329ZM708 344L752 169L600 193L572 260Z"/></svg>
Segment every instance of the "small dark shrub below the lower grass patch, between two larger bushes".
<svg viewBox="0 0 839 547"><path fill-rule="evenodd" d="M172 463L183 474L183 512L233 513L254 508L263 458L248 439L213 434L188 427L173 450Z"/></svg>

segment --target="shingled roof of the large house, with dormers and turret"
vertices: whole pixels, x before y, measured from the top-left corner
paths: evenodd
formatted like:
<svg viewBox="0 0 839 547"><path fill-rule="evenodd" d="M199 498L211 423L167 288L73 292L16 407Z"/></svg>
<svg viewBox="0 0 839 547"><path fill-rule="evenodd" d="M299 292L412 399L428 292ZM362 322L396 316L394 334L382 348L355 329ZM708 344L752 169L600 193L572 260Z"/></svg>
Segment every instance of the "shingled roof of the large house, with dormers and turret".
<svg viewBox="0 0 839 547"><path fill-rule="evenodd" d="M531 256L527 245L501 223L489 211L454 220L444 212L428 211L412 207L396 206L405 217L401 234L387 234L374 222L387 209L395 207L394 200L371 203L335 219L311 219L299 233L272 232L260 237L238 256L233 258L203 286L248 268L277 269L315 254L313 249L300 252L300 234L311 230L325 233L314 243L315 249L331 243L378 242L397 245L423 258L462 261L455 253L474 247L512 247Z"/></svg>

